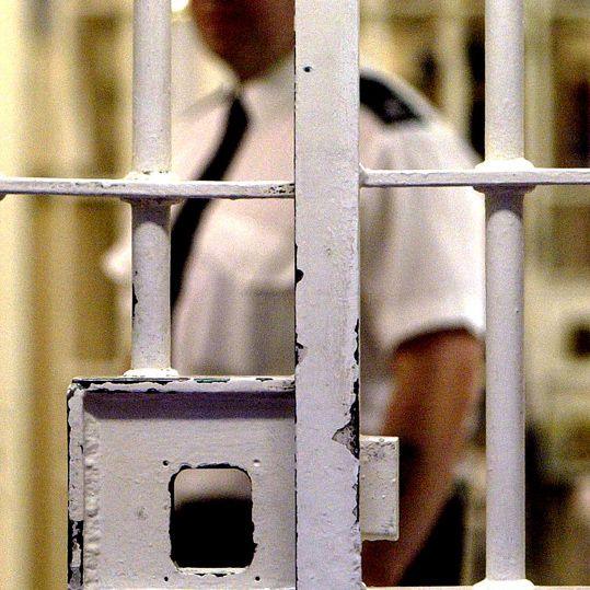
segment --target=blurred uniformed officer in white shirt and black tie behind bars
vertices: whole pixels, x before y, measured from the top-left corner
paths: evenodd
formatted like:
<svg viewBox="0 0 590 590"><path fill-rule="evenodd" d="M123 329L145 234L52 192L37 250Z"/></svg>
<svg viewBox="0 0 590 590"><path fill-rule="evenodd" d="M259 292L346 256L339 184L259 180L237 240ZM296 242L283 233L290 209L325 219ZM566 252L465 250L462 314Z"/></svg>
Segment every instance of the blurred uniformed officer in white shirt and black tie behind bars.
<svg viewBox="0 0 590 590"><path fill-rule="evenodd" d="M192 180L291 178L293 0L193 0L192 12L236 84L181 118L174 171ZM401 80L365 76L361 102L367 166L473 164ZM360 224L361 430L403 441L400 541L365 543L363 579L459 583L460 540L433 539L437 519L453 518L453 471L481 382L483 204L463 188L365 189ZM292 201L223 199L205 210L186 201L172 244L176 369L293 372L292 242Z"/></svg>

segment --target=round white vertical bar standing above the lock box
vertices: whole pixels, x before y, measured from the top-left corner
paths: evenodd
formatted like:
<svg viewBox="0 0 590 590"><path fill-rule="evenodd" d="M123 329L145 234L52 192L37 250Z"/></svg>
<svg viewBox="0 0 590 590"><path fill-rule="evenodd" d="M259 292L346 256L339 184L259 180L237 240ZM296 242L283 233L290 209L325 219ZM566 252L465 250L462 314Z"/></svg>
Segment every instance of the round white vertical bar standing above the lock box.
<svg viewBox="0 0 590 590"><path fill-rule="evenodd" d="M134 175L171 161L170 0L134 3ZM131 374L170 371L170 204L134 201Z"/></svg>

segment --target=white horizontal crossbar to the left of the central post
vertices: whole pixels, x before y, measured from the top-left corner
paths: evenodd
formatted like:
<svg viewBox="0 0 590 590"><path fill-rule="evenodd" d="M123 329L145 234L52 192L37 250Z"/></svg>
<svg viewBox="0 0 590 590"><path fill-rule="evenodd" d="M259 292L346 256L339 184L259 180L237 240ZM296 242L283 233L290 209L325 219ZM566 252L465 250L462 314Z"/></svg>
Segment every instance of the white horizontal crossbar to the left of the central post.
<svg viewBox="0 0 590 590"><path fill-rule="evenodd" d="M160 180L0 177L0 195L72 195L86 197L178 198L293 198L292 183L208 182Z"/></svg>

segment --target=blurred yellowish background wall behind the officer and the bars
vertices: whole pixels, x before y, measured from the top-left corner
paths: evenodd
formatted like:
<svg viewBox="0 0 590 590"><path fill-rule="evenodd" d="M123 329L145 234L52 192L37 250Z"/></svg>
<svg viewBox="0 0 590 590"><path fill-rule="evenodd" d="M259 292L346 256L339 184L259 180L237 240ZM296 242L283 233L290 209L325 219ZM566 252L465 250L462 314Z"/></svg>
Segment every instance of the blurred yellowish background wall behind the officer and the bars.
<svg viewBox="0 0 590 590"><path fill-rule="evenodd" d="M174 15L174 109L227 79ZM130 164L131 0L0 0L0 173L125 175ZM483 149L481 0L365 0L362 60L397 72ZM528 158L588 166L590 2L530 0ZM127 368L103 255L127 206L7 197L0 205L0 586L66 585L66 390L73 375ZM590 189L537 189L527 203L530 577L590 583ZM472 488L470 565L482 577L483 450Z"/></svg>

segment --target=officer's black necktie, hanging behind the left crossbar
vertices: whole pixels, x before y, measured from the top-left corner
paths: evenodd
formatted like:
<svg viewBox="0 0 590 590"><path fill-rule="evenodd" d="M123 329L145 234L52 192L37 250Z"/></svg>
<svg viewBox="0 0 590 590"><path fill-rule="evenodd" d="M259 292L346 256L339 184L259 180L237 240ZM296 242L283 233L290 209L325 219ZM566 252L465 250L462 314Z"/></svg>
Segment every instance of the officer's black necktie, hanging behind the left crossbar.
<svg viewBox="0 0 590 590"><path fill-rule="evenodd" d="M235 99L231 105L225 131L219 147L209 164L199 176L199 181L221 181L238 149L247 128L247 114L240 99ZM181 293L183 275L186 261L190 254L193 238L199 225L203 212L209 205L209 199L187 199L182 206L181 212L172 228L171 242L171 277L170 277L170 302L172 309L176 304Z"/></svg>

